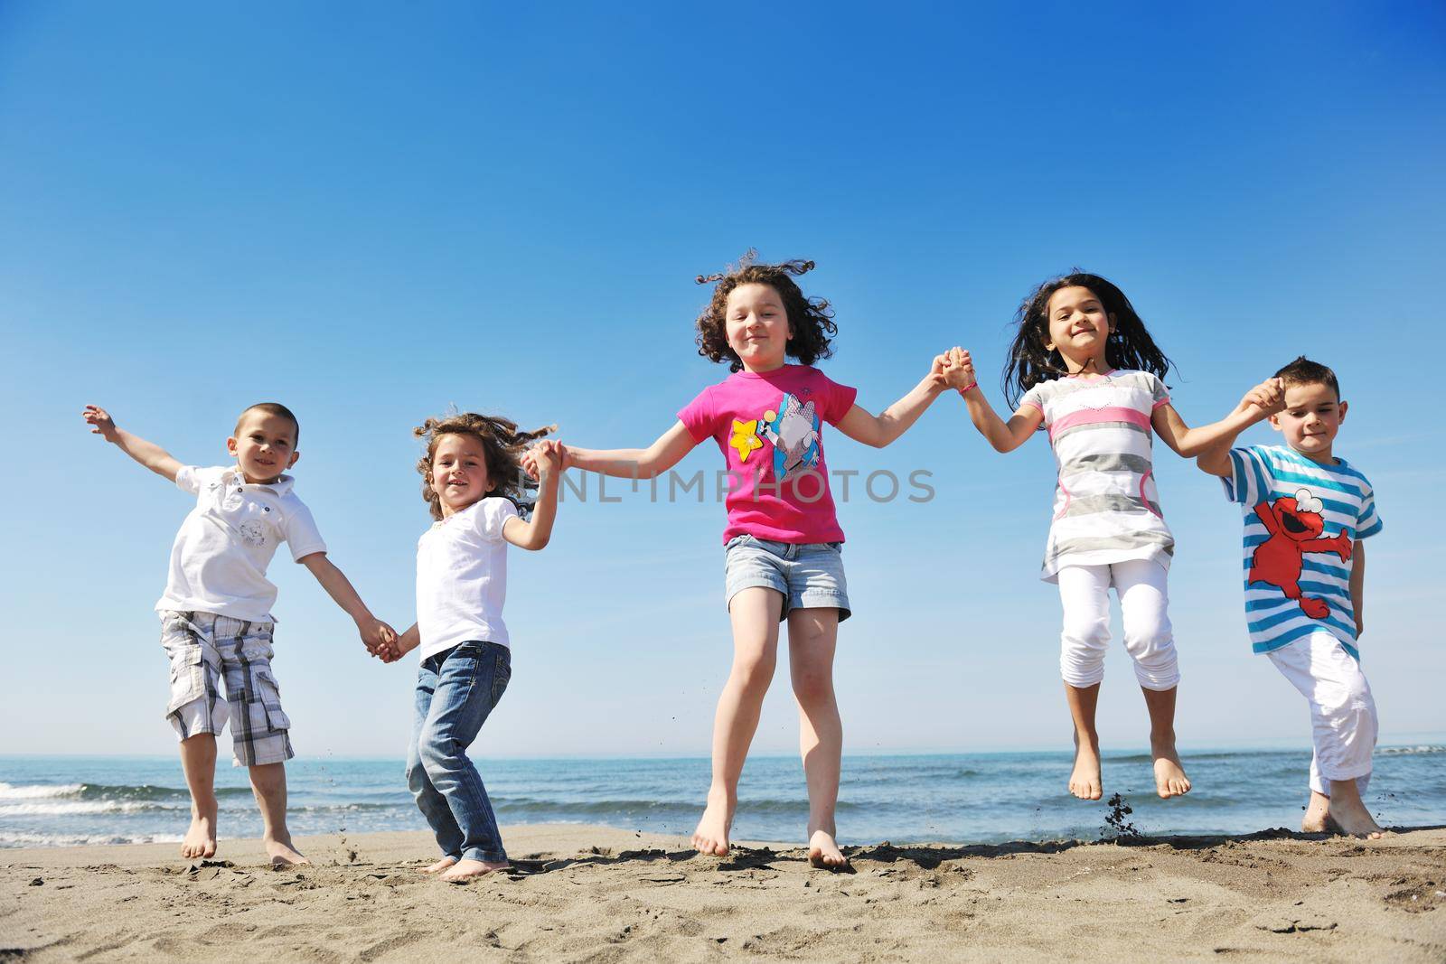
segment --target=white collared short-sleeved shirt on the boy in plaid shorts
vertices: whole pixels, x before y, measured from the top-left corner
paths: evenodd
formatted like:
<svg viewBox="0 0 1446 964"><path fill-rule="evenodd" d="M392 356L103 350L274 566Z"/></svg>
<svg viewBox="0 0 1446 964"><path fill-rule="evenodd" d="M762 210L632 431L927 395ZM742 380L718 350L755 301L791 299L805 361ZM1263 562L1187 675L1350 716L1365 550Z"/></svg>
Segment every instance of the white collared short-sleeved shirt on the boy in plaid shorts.
<svg viewBox="0 0 1446 964"><path fill-rule="evenodd" d="M270 620L276 587L266 581L266 567L276 546L289 545L298 562L327 551L292 481L282 475L254 486L234 465L181 468L176 487L195 494L195 509L171 546L171 578L156 608Z"/></svg>

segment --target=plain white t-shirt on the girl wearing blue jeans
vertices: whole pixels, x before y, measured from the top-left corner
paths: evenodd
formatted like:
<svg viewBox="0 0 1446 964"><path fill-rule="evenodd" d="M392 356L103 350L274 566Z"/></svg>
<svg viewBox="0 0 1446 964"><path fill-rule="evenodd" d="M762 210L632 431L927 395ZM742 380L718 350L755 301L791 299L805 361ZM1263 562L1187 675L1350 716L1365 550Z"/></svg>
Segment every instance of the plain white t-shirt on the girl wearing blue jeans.
<svg viewBox="0 0 1446 964"><path fill-rule="evenodd" d="M421 659L469 640L508 646L508 543L502 526L518 516L508 499L487 497L434 523L416 541L416 647Z"/></svg>

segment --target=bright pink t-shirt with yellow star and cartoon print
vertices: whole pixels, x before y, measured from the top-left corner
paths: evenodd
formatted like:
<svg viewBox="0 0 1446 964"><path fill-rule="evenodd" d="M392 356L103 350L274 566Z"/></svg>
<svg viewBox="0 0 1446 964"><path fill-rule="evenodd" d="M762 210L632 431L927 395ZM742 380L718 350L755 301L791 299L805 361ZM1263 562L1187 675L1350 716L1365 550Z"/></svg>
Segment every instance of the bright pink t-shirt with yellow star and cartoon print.
<svg viewBox="0 0 1446 964"><path fill-rule="evenodd" d="M694 442L713 438L727 460L723 542L843 542L823 458L823 423L837 425L857 389L818 369L735 371L703 389L678 419Z"/></svg>

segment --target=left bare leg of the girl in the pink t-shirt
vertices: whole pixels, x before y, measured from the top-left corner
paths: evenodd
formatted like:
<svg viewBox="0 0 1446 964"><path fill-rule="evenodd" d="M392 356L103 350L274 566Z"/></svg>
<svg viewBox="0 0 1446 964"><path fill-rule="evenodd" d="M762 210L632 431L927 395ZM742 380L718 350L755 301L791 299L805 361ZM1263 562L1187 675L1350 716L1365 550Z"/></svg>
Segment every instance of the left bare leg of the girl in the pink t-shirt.
<svg viewBox="0 0 1446 964"><path fill-rule="evenodd" d="M713 715L713 785L709 786L709 805L698 828L693 831L693 845L701 854L722 857L729 848L733 811L737 809L737 778L743 772L753 731L758 730L763 694L768 692L778 665L778 614L782 608L784 597L763 587L742 590L729 603L733 668Z"/></svg>

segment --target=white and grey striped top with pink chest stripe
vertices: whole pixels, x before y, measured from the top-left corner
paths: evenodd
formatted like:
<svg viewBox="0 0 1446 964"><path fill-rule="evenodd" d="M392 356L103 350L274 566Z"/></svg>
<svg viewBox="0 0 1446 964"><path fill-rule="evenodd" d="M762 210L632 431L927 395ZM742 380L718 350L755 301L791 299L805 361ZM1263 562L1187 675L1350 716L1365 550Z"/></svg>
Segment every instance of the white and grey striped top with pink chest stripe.
<svg viewBox="0 0 1446 964"><path fill-rule="evenodd" d="M1044 413L1058 465L1054 522L1040 578L1067 565L1154 559L1170 568L1174 536L1160 513L1150 419L1170 402L1148 371L1041 382L1019 400Z"/></svg>

